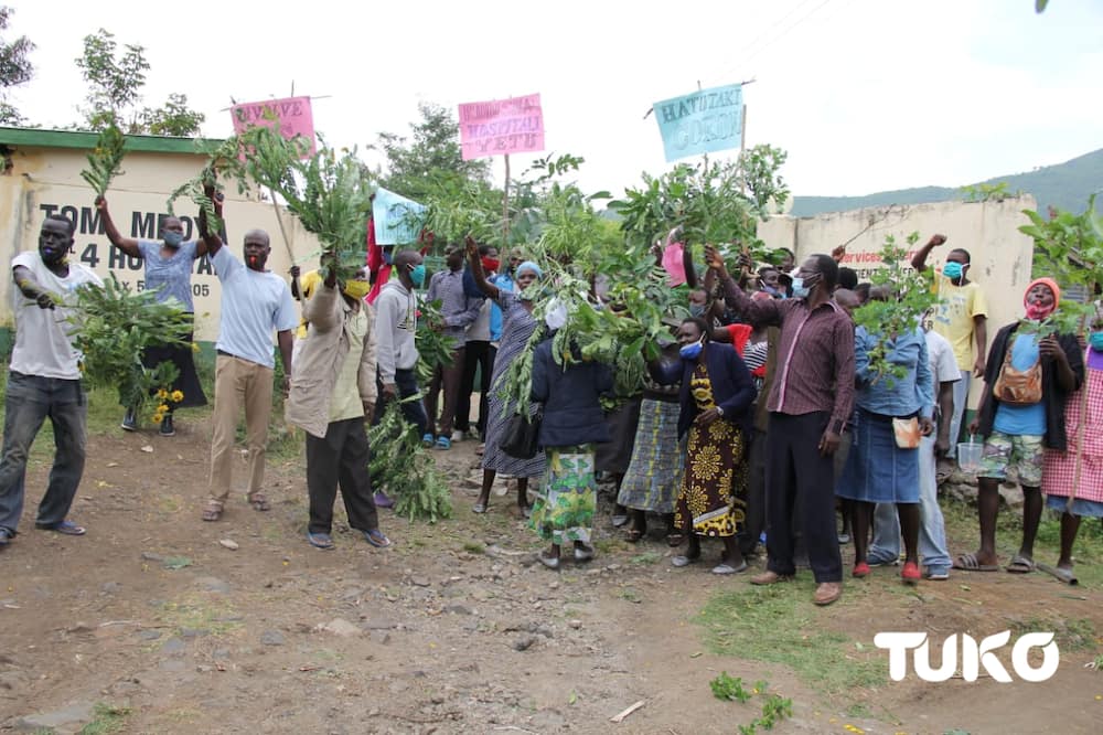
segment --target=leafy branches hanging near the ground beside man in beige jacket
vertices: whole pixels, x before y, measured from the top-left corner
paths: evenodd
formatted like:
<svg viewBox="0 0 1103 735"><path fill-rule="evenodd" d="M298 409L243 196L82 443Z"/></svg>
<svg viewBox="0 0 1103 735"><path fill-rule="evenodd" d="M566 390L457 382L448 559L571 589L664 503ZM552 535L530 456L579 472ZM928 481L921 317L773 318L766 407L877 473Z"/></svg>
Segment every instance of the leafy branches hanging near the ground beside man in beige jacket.
<svg viewBox="0 0 1103 735"><path fill-rule="evenodd" d="M392 401L379 423L367 430L367 440L372 448L367 466L372 484L395 499L395 513L429 523L451 518L448 478L421 446L416 427L403 417L398 401Z"/></svg>

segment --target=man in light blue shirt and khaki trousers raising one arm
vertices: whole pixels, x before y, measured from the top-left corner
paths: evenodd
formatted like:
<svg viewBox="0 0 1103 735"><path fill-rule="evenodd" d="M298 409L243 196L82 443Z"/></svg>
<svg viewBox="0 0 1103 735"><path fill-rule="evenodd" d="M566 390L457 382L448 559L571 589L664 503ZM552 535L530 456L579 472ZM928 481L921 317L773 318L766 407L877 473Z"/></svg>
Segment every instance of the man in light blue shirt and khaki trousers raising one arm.
<svg viewBox="0 0 1103 735"><path fill-rule="evenodd" d="M245 441L249 454L248 500L254 510L271 508L264 491L268 419L272 409L271 333L276 330L283 362L283 394L291 380L291 330L299 323L291 290L282 278L266 270L271 245L268 233L245 233L245 263L223 247L222 238L207 232L200 214L200 234L222 281L222 316L218 322L214 372L214 416L211 437L211 496L203 509L204 521L217 521L229 497L233 480L234 435L245 407Z"/></svg>

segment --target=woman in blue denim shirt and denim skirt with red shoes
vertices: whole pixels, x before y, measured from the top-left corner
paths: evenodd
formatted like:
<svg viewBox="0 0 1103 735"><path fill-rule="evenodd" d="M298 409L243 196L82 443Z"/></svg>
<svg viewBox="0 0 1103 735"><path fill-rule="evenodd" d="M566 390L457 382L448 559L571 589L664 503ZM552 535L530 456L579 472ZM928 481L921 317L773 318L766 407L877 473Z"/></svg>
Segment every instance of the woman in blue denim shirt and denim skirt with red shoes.
<svg viewBox="0 0 1103 735"><path fill-rule="evenodd" d="M869 575L866 554L869 528L877 503L891 503L900 516L904 565L900 578L915 584L919 568L919 445L934 430L934 377L923 330L898 334L877 333L859 327L854 335L854 441L835 494L846 501L854 529L855 577ZM900 374L881 372L871 355L884 351L885 361Z"/></svg>

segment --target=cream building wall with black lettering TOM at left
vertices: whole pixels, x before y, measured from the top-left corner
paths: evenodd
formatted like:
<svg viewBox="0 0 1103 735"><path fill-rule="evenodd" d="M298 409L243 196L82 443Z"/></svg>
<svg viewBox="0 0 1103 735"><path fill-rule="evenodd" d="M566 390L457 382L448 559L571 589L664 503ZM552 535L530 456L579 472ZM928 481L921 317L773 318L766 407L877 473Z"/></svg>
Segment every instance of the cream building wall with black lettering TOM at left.
<svg viewBox="0 0 1103 735"><path fill-rule="evenodd" d="M32 131L0 129L0 146L9 162L7 170L0 173L0 247L4 262L10 264L18 253L36 249L42 221L56 213L76 224L72 259L89 266L103 278L115 274L131 288L142 288L142 260L127 257L108 242L93 206L95 195L81 178L88 146L77 143L90 140L94 145L94 137L58 131L30 134ZM111 182L107 192L111 217L124 236L156 238L160 232L159 219L167 215L169 194L196 175L206 159L194 152L190 140L132 137L128 146L131 148L122 160L124 173ZM191 200L178 199L174 209L183 221L185 238L197 236L197 209ZM286 277L291 256L280 235L272 205L239 195L236 184L229 183L224 213L232 252L242 257L245 232L254 227L266 230L272 246L268 267ZM318 241L299 226L296 217L283 212L281 219L295 259L301 260L318 249ZM310 265L304 264L304 267ZM218 334L222 288L206 258L197 259L192 273L196 340L213 341ZM0 278L0 326L3 327L12 326L13 288L11 278Z"/></svg>

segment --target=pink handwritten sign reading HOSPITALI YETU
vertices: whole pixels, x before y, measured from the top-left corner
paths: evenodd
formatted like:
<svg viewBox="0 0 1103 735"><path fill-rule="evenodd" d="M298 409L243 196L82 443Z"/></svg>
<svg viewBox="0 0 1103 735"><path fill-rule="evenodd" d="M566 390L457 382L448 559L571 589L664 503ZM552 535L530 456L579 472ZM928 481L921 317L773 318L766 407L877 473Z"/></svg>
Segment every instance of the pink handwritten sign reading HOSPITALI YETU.
<svg viewBox="0 0 1103 735"><path fill-rule="evenodd" d="M544 150L540 96L460 105L463 160Z"/></svg>

